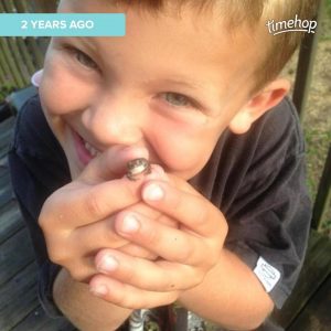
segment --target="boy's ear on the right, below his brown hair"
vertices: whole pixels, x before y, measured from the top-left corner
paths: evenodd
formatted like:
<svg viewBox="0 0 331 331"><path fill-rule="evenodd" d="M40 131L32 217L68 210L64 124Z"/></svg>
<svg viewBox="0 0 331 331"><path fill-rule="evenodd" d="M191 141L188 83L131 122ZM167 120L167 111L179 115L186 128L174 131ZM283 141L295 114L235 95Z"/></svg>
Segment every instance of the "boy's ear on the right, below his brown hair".
<svg viewBox="0 0 331 331"><path fill-rule="evenodd" d="M228 128L237 135L247 132L253 122L266 111L278 105L288 94L289 89L289 81L284 78L273 81L264 89L252 97L252 99L234 116Z"/></svg>

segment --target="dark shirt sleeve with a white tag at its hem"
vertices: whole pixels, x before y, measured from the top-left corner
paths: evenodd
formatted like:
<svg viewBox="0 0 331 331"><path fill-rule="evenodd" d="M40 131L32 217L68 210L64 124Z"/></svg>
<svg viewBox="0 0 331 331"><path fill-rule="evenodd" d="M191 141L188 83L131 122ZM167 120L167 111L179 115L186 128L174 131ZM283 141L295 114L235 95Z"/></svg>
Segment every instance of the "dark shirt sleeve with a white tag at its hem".
<svg viewBox="0 0 331 331"><path fill-rule="evenodd" d="M296 110L290 104L285 109L286 116L280 110L264 119L227 211L226 246L253 269L277 308L299 276L311 220L302 132Z"/></svg>

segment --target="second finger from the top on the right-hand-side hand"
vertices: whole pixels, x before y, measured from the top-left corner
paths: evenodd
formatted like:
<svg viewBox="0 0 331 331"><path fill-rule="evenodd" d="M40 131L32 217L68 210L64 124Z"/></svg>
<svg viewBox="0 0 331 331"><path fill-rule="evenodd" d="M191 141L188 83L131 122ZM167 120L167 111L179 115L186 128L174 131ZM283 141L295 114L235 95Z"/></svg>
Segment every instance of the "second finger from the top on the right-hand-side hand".
<svg viewBox="0 0 331 331"><path fill-rule="evenodd" d="M205 256L212 255L207 241L138 213L119 213L115 227L119 235L169 261L203 265Z"/></svg>

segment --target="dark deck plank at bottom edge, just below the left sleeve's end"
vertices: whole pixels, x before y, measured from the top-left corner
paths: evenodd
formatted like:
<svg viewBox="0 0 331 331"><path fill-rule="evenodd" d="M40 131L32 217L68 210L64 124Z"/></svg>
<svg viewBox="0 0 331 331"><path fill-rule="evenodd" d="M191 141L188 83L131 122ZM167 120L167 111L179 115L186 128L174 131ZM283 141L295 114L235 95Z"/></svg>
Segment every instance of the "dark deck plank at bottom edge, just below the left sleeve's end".
<svg viewBox="0 0 331 331"><path fill-rule="evenodd" d="M39 305L33 311L11 331L75 331L70 322L64 318L51 319Z"/></svg>

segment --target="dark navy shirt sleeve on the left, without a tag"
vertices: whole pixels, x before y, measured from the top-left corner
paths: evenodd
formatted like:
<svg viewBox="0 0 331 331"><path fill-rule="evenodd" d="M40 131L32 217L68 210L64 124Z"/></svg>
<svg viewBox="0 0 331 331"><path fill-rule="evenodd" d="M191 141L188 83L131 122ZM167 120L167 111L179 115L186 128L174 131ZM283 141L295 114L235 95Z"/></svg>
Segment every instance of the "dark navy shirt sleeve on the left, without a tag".
<svg viewBox="0 0 331 331"><path fill-rule="evenodd" d="M39 299L49 316L60 317L62 313L53 301L52 288L61 267L47 257L38 218L46 197L70 181L70 172L63 150L46 124L38 97L29 99L18 115L8 159L13 191L39 266Z"/></svg>

